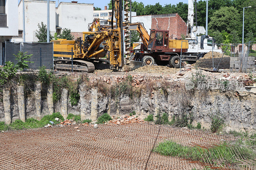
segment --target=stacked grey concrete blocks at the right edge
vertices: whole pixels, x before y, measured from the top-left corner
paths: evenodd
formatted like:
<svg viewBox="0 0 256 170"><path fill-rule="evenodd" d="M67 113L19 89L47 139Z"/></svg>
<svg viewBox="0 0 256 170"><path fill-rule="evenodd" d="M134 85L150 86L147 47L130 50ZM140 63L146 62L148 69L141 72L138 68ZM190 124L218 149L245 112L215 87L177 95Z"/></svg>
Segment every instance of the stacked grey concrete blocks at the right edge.
<svg viewBox="0 0 256 170"><path fill-rule="evenodd" d="M246 63L246 71L255 71L255 57L248 57ZM239 71L240 68L240 57L230 57L230 71Z"/></svg>

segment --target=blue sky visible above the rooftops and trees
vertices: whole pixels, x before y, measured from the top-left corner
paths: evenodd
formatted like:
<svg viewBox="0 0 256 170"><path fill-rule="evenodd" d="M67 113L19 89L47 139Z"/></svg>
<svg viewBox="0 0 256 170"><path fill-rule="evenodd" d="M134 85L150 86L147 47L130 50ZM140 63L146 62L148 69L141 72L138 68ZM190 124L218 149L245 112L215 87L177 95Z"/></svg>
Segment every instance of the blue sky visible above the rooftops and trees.
<svg viewBox="0 0 256 170"><path fill-rule="evenodd" d="M58 0L56 1L56 6L58 6ZM59 2L71 2L72 0L59 0ZM100 7L102 10L104 10L104 6L110 2L110 0L97 0L97 1L89 1L89 0L76 0L78 3L87 3L92 4L94 3L95 7ZM161 1L154 1L154 0L136 0L137 2L143 2L145 5L151 4L154 5L156 3L160 3L161 5L164 4L178 4L179 2L188 3L188 0L161 0ZM20 2L20 0L18 0Z"/></svg>

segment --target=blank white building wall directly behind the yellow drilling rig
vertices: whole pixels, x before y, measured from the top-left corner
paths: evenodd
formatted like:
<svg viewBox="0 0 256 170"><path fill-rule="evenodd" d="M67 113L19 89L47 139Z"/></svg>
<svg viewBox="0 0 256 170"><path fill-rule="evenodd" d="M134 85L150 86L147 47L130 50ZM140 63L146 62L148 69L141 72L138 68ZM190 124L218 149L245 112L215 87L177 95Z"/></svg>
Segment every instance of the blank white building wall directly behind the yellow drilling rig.
<svg viewBox="0 0 256 170"><path fill-rule="evenodd" d="M59 26L71 29L71 32L88 31L93 20L93 4L63 3L56 10L59 14Z"/></svg>

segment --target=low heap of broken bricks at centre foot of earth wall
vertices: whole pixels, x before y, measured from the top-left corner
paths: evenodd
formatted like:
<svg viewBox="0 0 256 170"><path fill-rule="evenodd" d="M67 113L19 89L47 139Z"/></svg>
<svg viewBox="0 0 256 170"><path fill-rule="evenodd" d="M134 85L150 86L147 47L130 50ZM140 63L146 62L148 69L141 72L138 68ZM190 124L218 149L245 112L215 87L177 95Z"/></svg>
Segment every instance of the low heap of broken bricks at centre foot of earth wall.
<svg viewBox="0 0 256 170"><path fill-rule="evenodd" d="M105 124L117 124L117 125L124 125L129 123L137 123L137 122L144 122L144 120L141 120L140 118L132 115L123 115L121 117L115 117L112 116L112 120L108 121Z"/></svg>

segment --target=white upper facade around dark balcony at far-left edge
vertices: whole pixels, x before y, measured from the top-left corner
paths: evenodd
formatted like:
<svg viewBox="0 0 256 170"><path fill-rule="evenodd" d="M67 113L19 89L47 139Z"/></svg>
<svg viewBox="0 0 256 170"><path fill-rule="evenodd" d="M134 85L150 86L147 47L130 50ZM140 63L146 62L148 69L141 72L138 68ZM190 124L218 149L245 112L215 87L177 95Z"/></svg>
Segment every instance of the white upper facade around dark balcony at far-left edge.
<svg viewBox="0 0 256 170"><path fill-rule="evenodd" d="M17 35L19 35L19 32L18 32L18 1L6 0L5 13L7 14L7 27L0 28L0 36L17 36ZM2 49L0 49L0 50L2 50Z"/></svg>

